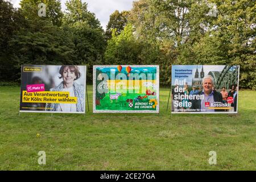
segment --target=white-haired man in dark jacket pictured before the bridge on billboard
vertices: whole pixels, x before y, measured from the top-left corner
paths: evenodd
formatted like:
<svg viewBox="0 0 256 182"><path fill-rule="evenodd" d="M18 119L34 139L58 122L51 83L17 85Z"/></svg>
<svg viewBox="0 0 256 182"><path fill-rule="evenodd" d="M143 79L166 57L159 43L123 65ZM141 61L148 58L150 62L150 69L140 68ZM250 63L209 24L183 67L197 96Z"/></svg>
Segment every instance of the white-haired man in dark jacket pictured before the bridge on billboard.
<svg viewBox="0 0 256 182"><path fill-rule="evenodd" d="M208 75L203 78L203 90L196 93L196 95L204 95L203 100L192 100L192 106L191 109L197 109L196 111L224 111L221 109L209 109L208 106L205 106L205 102L222 102L222 95L220 92L217 92L216 90L212 90L214 86L214 80L213 77Z"/></svg>

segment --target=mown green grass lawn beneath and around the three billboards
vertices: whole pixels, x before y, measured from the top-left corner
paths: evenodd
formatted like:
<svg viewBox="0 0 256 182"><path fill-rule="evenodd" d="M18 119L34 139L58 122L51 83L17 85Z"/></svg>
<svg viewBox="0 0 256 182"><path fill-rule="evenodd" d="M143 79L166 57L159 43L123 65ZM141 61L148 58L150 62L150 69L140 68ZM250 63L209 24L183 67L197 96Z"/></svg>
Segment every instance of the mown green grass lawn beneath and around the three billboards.
<svg viewBox="0 0 256 182"><path fill-rule="evenodd" d="M0 88L1 170L256 170L255 91L240 92L237 115L171 114L169 89L160 89L160 114L93 114L89 85L86 115L51 117L19 116L19 89Z"/></svg>

